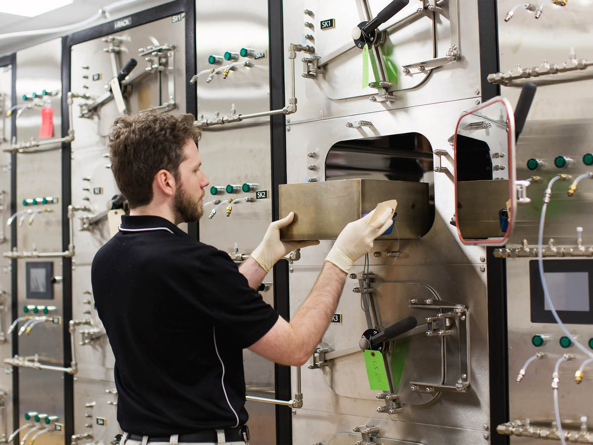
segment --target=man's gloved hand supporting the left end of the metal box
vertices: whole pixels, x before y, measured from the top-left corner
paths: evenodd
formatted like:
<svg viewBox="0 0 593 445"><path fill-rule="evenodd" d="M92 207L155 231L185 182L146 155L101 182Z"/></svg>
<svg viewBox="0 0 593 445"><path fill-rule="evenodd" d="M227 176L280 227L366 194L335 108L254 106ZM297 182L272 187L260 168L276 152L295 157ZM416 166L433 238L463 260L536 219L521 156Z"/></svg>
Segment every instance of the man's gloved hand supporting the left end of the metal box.
<svg viewBox="0 0 593 445"><path fill-rule="evenodd" d="M276 264L276 261L288 255L292 250L319 244L318 240L280 241L280 228L290 224L294 216L294 212L290 212L282 220L272 222L267 228L262 242L251 252L253 259L263 267L264 271L269 272L272 266Z"/></svg>

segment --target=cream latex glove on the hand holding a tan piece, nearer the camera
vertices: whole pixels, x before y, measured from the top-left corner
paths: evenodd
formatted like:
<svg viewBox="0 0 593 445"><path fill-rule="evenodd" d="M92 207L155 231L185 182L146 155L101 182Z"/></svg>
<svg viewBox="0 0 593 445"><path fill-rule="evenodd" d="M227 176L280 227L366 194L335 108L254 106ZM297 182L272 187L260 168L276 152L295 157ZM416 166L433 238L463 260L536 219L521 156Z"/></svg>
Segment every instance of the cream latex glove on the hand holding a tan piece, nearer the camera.
<svg viewBox="0 0 593 445"><path fill-rule="evenodd" d="M326 261L334 263L344 272L348 272L354 262L368 253L375 238L391 225L393 210L385 209L377 220L371 222L373 210L360 220L349 222L337 236L336 242L326 256Z"/></svg>

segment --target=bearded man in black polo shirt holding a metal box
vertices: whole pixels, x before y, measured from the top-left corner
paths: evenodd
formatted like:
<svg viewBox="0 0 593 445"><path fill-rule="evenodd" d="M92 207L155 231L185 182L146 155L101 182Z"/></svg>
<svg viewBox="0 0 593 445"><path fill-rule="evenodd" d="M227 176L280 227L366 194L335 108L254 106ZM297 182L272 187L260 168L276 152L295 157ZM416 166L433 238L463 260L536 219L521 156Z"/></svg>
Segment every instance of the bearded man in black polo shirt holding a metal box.
<svg viewBox="0 0 593 445"><path fill-rule="evenodd" d="M203 213L192 115L121 116L109 135L111 169L130 215L93 260L99 317L116 358L122 445L243 443L243 349L285 365L308 360L329 325L352 263L390 225L390 211L348 224L307 300L288 323L257 286L274 263L318 241L280 241L272 222L240 268L177 227Z"/></svg>

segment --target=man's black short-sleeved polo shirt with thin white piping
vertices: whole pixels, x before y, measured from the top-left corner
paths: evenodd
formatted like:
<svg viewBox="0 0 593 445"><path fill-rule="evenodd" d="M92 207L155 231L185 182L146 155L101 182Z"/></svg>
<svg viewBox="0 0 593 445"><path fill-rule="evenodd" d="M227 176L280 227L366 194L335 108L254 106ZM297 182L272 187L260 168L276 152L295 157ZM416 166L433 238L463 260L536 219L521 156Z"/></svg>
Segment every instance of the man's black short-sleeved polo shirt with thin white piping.
<svg viewBox="0 0 593 445"><path fill-rule="evenodd" d="M278 313L227 253L164 218L123 216L91 279L122 430L167 436L247 422L243 348Z"/></svg>

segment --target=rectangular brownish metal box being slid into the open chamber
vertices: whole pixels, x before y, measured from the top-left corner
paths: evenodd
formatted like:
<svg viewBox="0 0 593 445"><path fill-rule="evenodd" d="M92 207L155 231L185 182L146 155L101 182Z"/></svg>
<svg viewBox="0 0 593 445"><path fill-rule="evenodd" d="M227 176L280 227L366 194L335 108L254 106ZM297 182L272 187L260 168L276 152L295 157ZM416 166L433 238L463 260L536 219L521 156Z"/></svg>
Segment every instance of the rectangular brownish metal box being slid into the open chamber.
<svg viewBox="0 0 593 445"><path fill-rule="evenodd" d="M381 239L417 239L428 232L428 183L345 179L280 185L280 217L295 212L294 221L280 231L280 238L336 239L346 224L388 199L397 199L396 227Z"/></svg>

